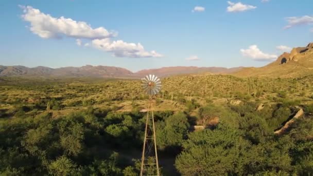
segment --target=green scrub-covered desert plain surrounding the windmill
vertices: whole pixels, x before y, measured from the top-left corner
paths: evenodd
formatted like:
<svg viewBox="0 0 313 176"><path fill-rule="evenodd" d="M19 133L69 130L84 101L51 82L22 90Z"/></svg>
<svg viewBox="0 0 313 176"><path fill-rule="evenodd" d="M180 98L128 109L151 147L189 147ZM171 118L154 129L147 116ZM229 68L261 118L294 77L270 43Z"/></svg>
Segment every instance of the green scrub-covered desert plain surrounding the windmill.
<svg viewBox="0 0 313 176"><path fill-rule="evenodd" d="M154 111L164 175L313 173L312 76L161 81ZM148 99L140 85L1 78L0 173L137 175ZM299 109L301 118L275 135ZM206 129L194 132L194 125Z"/></svg>

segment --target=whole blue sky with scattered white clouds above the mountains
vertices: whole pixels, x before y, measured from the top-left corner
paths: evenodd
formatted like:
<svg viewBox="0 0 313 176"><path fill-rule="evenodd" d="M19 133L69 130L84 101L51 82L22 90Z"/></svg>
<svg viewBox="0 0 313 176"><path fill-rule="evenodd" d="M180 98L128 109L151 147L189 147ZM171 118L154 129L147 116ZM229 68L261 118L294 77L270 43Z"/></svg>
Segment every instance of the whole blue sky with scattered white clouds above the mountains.
<svg viewBox="0 0 313 176"><path fill-rule="evenodd" d="M0 65L263 66L313 42L312 7L311 0L1 1Z"/></svg>

